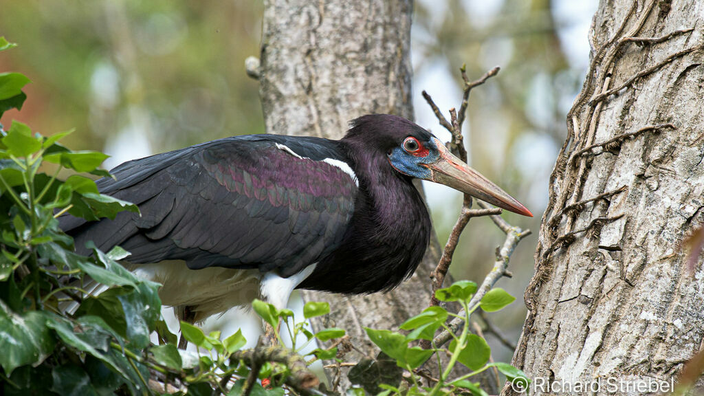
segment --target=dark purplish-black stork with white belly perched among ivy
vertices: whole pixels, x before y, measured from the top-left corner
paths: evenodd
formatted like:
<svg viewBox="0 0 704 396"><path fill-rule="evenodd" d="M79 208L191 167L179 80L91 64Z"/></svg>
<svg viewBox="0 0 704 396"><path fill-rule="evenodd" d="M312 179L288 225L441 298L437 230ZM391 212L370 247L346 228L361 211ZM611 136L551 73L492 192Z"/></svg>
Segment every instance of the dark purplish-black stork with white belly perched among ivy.
<svg viewBox="0 0 704 396"><path fill-rule="evenodd" d="M530 211L430 132L389 115L363 116L341 140L228 137L123 163L97 182L141 216L61 227L162 283L165 305L199 321L260 297L286 306L295 288L361 294L410 276L430 218L413 178L432 180L525 216ZM180 308L180 309L179 309Z"/></svg>

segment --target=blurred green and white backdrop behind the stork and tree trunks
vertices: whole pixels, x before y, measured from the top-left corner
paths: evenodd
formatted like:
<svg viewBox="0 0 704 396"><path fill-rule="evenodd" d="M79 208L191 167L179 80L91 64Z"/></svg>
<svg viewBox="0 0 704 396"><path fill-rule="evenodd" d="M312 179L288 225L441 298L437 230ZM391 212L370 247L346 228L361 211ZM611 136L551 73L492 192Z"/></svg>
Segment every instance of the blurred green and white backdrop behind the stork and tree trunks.
<svg viewBox="0 0 704 396"><path fill-rule="evenodd" d="M465 144L470 164L535 214L505 218L535 233L565 139L565 115L589 62L587 34L596 6L597 0L415 3L417 123L448 140L420 92L427 90L447 113L460 105L463 63L472 80L501 66L497 77L472 91ZM13 119L44 135L75 128L64 144L105 151L111 155L106 168L264 132L258 82L244 68L247 56L259 54L260 1L0 0L0 10L0 36L19 44L0 54L0 73L18 71L32 80L23 110L8 111L0 120L6 128ZM444 245L462 199L443 186L425 188ZM455 253L455 279L481 282L502 242L489 218L473 219ZM535 245L535 234L521 242L510 264L514 277L498 284L517 302L491 315L514 343L526 314L522 295L533 273ZM224 333L243 320L226 321ZM256 321L249 323L256 328ZM256 340L253 331L248 340ZM510 361L513 351L487 338L494 359Z"/></svg>

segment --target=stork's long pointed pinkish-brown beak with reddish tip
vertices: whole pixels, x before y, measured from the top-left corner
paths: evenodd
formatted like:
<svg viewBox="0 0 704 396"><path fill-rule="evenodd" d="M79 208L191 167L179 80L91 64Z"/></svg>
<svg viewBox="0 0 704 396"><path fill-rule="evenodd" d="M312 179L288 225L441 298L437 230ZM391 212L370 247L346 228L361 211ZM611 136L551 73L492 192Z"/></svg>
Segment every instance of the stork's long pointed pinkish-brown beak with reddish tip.
<svg viewBox="0 0 704 396"><path fill-rule="evenodd" d="M508 211L533 217L533 214L515 198L454 156L443 142L437 138L434 140L440 158L435 163L425 165L431 171L428 180L452 187Z"/></svg>

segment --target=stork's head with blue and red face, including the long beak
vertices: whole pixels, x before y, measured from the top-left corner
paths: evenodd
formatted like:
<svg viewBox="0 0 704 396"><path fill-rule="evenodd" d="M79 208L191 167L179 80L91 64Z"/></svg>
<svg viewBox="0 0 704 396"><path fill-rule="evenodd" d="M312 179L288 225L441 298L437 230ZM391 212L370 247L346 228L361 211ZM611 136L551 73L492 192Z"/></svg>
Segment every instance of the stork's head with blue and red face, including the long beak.
<svg viewBox="0 0 704 396"><path fill-rule="evenodd" d="M363 132L401 175L438 182L508 211L533 216L515 198L454 156L432 133L406 118L374 114L357 118L352 125L346 139Z"/></svg>

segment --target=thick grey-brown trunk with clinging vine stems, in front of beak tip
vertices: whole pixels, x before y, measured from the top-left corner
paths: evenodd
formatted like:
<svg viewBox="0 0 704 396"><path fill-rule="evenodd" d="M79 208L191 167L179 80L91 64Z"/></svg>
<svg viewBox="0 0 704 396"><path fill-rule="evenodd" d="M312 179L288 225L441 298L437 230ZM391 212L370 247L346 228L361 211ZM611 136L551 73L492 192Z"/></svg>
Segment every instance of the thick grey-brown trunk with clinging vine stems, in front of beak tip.
<svg viewBox="0 0 704 396"><path fill-rule="evenodd" d="M701 9L612 0L594 16L513 359L536 395L650 394L634 387L669 384L702 347L704 269L688 271L683 244L704 221Z"/></svg>

